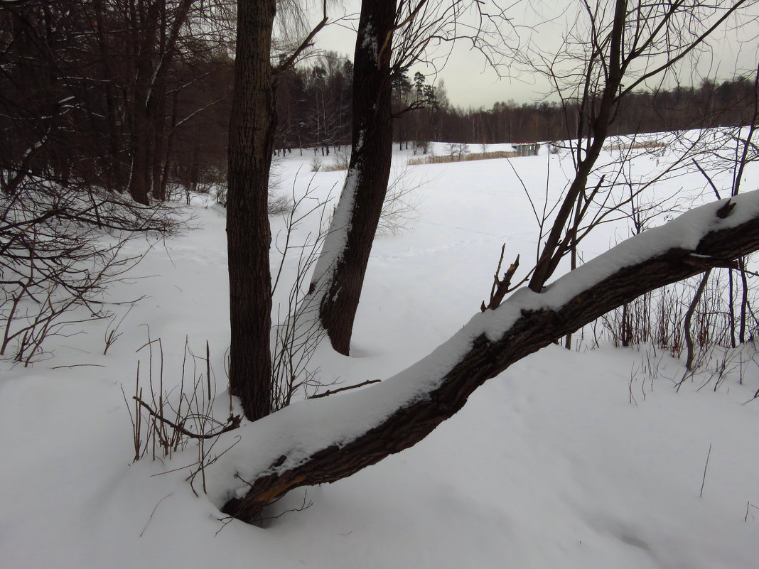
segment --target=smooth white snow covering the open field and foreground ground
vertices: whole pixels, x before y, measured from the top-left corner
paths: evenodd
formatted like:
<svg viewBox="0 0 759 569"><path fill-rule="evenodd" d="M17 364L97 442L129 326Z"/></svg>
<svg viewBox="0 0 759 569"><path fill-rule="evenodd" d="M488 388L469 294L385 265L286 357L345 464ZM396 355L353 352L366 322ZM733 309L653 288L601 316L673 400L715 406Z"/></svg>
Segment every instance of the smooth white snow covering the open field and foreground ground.
<svg viewBox="0 0 759 569"><path fill-rule="evenodd" d="M666 167L669 147L655 150L635 159L629 180ZM279 192L301 196L309 185L320 199L339 192L345 172L313 174L313 152L296 155L282 162ZM312 362L326 384L392 376L460 329L487 300L502 243L505 262L520 253L526 268L534 259L537 222L520 178L540 213L546 188L556 196L571 170L564 153L402 168L409 155L397 153L395 172L405 170L400 184L417 187L409 198L417 213L408 230L376 240L351 357L325 344ZM730 180L729 171L711 173L718 187ZM748 170L744 190L757 181L759 171ZM694 168L645 196L680 209L714 199ZM650 225L665 221L666 209L654 208ZM134 394L138 360L146 386L143 345L161 338L163 386L176 398L186 338L195 354L205 353L207 340L216 415L228 415L224 211L197 196L187 212L196 228L154 244L133 279L112 289L114 302L144 298L128 313L127 305L115 307L115 322L126 316L107 355L106 322L93 322L83 327L87 334L51 338L52 357L34 366L2 363L2 569L757 566L759 399L745 402L759 388L759 366L748 349L742 385L731 373L716 391L696 381L676 393L682 363L653 348L550 346L480 388L416 447L339 483L296 490L271 515L309 508L266 528L225 523L216 496L227 480L223 461L208 467L209 495L199 497L184 481L197 460L194 446L170 461L133 463L122 395L122 388L126 398ZM283 227L272 217L275 236ZM317 230L312 215L294 242ZM624 219L602 225L584 243L584 259L628 235ZM296 257L285 261L280 301ZM279 262L276 249L272 261ZM204 370L203 362L188 376ZM329 398L335 425L344 420L339 398L349 393ZM289 435L248 426L240 447L263 454ZM231 432L218 451L234 442Z"/></svg>

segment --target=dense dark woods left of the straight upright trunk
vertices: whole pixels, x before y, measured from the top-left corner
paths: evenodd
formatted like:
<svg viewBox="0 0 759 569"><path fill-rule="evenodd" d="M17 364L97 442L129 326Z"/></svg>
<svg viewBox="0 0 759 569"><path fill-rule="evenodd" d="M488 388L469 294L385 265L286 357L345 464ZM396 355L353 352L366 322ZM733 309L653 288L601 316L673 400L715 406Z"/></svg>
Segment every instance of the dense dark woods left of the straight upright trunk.
<svg viewBox="0 0 759 569"><path fill-rule="evenodd" d="M144 204L224 170L228 13L197 0L3 2L0 169Z"/></svg>

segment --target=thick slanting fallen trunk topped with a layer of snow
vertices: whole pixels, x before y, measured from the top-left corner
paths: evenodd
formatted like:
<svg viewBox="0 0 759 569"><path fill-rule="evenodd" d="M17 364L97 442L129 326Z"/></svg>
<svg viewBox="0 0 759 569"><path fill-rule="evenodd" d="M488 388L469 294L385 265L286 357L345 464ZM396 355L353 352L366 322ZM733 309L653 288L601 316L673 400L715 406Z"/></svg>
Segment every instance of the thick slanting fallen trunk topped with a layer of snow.
<svg viewBox="0 0 759 569"><path fill-rule="evenodd" d="M386 405L360 427L340 430L330 426L313 435L313 429L321 428L320 421L329 420L335 410L339 413L341 407L335 405L329 412L317 413L306 428L298 424L298 413L303 413L304 407L333 398L301 404L301 409L287 417L296 419L293 423L272 423L280 430L294 427L287 435L288 442L268 450L276 454L270 455L263 470L235 467L236 476L244 480L244 492L238 489L234 498L226 500L223 511L241 520L255 520L269 502L291 489L335 482L409 448L461 409L483 382L512 363L647 291L711 267L732 266L732 259L757 249L759 192L752 192L701 206L632 237L540 294L517 291L496 310L474 316L451 340L405 372L346 395L348 406L344 407L350 413L355 411L351 405L361 398L362 408L374 410L367 401ZM392 384L387 388L401 392L402 398L388 396L387 390L373 395L386 388L385 384ZM308 439L318 442L307 443Z"/></svg>

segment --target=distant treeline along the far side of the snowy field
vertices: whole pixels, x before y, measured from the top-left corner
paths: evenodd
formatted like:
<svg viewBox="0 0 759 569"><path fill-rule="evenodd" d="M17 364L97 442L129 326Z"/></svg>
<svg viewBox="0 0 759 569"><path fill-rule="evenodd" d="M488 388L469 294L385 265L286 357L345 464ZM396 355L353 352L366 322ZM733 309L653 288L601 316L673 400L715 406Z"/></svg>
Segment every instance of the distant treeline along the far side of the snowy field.
<svg viewBox="0 0 759 569"><path fill-rule="evenodd" d="M276 147L312 147L350 143L351 61L326 55L280 79ZM635 134L747 124L754 116L754 80L735 77L723 83L676 86L656 93L631 93L617 112L614 134ZM414 142L521 143L576 136L578 109L572 102L497 102L493 108L461 108L444 84L431 86L420 73L401 74L393 82L394 140Z"/></svg>

